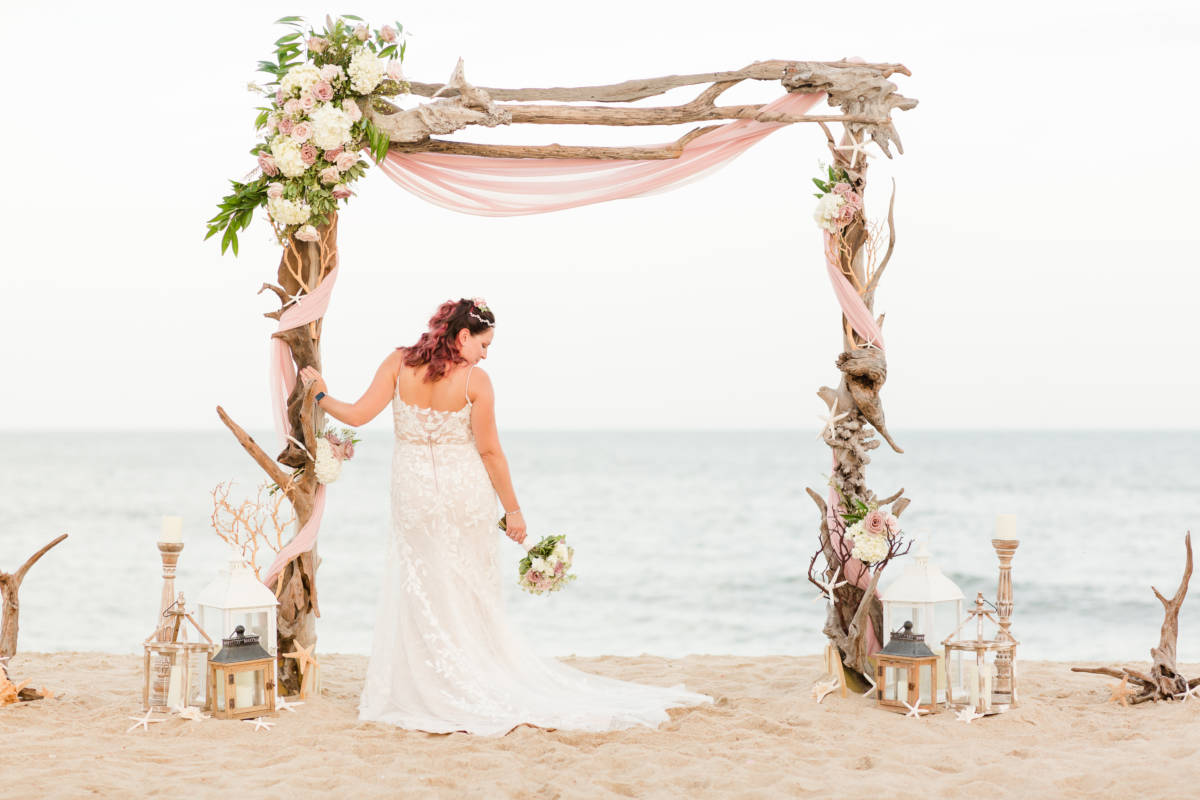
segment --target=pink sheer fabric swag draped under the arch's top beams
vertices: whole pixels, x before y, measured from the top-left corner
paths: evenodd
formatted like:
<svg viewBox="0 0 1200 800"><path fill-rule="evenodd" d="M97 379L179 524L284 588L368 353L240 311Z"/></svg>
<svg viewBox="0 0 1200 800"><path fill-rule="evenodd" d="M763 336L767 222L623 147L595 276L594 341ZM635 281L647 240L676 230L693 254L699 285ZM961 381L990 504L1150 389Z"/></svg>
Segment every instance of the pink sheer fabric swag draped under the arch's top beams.
<svg viewBox="0 0 1200 800"><path fill-rule="evenodd" d="M763 112L803 114L824 95L787 94ZM676 188L728 163L786 122L736 120L689 142L678 158L492 158L389 152L380 166L402 187L451 211L544 213Z"/></svg>

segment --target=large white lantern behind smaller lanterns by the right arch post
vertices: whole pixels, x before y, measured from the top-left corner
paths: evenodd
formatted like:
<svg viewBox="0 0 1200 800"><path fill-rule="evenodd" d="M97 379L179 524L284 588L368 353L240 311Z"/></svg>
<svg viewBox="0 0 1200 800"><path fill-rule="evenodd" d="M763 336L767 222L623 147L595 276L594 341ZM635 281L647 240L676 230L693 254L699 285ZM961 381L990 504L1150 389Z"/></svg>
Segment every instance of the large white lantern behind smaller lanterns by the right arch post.
<svg viewBox="0 0 1200 800"><path fill-rule="evenodd" d="M962 590L930 564L924 542L920 542L917 554L900 577L883 590L881 600L884 631L895 631L911 620L912 632L924 636L925 642L932 642L935 646L953 633L962 619ZM943 662L946 656L938 652L937 657ZM950 657L954 663L949 667L949 685L938 688L938 702L947 700L947 691L950 698L966 691L961 654L955 652ZM937 673L947 674L944 663L937 664Z"/></svg>

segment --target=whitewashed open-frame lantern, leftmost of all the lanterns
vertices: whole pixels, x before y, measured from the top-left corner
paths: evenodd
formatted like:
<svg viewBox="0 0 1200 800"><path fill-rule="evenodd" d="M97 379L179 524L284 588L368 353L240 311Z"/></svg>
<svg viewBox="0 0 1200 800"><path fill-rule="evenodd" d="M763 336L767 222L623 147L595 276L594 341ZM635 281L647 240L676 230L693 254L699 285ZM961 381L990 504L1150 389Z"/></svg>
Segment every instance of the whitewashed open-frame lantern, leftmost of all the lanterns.
<svg viewBox="0 0 1200 800"><path fill-rule="evenodd" d="M179 599L163 612L163 618L167 621L142 645L145 651L142 709L166 712L173 706L194 705L206 710L211 702L206 693L208 660L217 651L217 645L187 613L184 593L179 593ZM199 633L199 640L187 640L184 620Z"/></svg>

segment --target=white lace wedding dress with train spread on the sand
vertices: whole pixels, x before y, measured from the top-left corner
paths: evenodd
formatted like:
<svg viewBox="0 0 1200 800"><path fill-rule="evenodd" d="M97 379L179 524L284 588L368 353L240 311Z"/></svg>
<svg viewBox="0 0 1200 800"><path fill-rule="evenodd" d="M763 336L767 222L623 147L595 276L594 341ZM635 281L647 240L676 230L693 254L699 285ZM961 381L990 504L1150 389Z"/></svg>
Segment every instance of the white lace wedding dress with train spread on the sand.
<svg viewBox="0 0 1200 800"><path fill-rule="evenodd" d="M522 723L616 730L712 703L683 685L613 680L539 656L509 625L497 567L505 540L470 408L392 397L392 535L359 718L430 733L502 735ZM504 576L515 579L518 554L505 547Z"/></svg>

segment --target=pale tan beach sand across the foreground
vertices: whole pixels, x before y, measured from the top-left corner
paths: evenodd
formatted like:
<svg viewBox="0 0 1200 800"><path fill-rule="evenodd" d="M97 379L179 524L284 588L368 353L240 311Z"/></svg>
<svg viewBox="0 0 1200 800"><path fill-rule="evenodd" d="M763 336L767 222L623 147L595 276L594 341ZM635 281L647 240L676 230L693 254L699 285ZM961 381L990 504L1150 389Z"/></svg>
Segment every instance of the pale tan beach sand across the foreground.
<svg viewBox="0 0 1200 800"><path fill-rule="evenodd" d="M12 678L58 696L0 708L0 796L1200 796L1200 702L1121 708L1108 702L1111 679L1070 664L1021 662L1021 708L966 724L852 693L818 705L816 656L563 661L716 702L671 710L658 729L425 734L359 722L366 658L325 655L324 693L269 732L172 715L127 733L140 657L18 654Z"/></svg>

